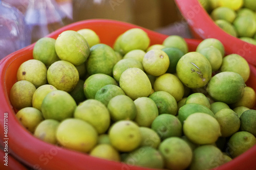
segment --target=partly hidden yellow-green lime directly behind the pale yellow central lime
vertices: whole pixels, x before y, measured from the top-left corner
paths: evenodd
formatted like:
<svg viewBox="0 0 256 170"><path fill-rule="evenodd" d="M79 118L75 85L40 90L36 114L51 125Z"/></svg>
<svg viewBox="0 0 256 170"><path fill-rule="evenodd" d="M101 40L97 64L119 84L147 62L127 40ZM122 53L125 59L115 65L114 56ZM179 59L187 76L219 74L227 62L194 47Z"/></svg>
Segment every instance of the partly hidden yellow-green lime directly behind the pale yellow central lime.
<svg viewBox="0 0 256 170"><path fill-rule="evenodd" d="M123 71L125 71L128 68L140 68L142 71L144 71L144 68L142 66L142 63L136 59L133 58L126 58L119 60L113 67L113 77L114 79L119 82L121 74Z"/></svg>

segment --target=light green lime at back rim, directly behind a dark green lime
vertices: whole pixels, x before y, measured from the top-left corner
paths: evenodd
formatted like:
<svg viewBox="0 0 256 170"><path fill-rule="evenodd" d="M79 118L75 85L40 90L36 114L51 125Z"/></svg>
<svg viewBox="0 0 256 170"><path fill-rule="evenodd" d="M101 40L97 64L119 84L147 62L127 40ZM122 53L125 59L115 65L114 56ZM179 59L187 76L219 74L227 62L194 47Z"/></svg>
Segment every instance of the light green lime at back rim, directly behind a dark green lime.
<svg viewBox="0 0 256 170"><path fill-rule="evenodd" d="M170 35L164 39L163 45L165 47L175 47L182 51L182 53L188 53L188 45L185 39L179 35Z"/></svg>

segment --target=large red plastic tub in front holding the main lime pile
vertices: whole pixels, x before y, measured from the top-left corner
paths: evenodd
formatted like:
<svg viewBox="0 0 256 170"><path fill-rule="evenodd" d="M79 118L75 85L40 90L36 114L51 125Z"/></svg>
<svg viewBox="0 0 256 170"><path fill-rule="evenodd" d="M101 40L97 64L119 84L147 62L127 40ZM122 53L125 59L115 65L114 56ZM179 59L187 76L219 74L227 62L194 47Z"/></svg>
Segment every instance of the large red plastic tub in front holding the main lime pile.
<svg viewBox="0 0 256 170"><path fill-rule="evenodd" d="M131 28L141 28L129 23L113 20L84 20L73 23L48 37L56 38L62 31L74 30L82 28L94 30L100 37L102 43L113 45L118 35ZM167 35L162 35L147 29L142 28L148 33L151 38L151 44L162 43ZM200 40L185 39L189 45L189 51L195 51ZM34 44L23 48L15 53L8 55L0 63L0 136L1 140L8 137L8 151L19 161L30 166L33 169L47 170L65 170L65 169L88 169L88 170L136 170L148 169L137 166L131 166L120 162L108 161L91 157L87 154L71 151L65 148L57 147L56 145L46 143L35 138L29 133L16 119L15 110L9 101L9 93L12 85L16 82L16 71L20 64L24 61L32 59L32 51ZM227 50L231 53L231 51ZM251 75L247 85L256 90L256 68L252 65ZM8 136L4 134L4 115L8 114ZM1 142L3 145L3 142ZM246 153L233 159L232 161L215 169L255 169L256 167L256 145ZM3 162L2 162L3 163Z"/></svg>

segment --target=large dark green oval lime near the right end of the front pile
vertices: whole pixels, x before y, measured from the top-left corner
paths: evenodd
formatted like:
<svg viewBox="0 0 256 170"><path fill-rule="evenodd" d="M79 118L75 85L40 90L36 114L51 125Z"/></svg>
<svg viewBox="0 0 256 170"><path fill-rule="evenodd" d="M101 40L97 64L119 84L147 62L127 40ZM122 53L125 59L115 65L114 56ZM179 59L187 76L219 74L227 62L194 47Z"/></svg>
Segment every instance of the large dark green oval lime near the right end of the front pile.
<svg viewBox="0 0 256 170"><path fill-rule="evenodd" d="M242 98L244 88L244 79L238 73L224 71L211 78L206 90L215 101L231 104Z"/></svg>

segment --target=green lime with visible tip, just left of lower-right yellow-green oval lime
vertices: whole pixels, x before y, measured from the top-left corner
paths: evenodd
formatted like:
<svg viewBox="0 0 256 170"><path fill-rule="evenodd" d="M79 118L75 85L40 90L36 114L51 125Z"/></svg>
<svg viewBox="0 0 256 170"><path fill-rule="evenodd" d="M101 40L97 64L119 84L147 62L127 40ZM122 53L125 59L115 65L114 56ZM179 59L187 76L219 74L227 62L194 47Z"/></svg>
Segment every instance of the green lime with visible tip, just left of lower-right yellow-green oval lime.
<svg viewBox="0 0 256 170"><path fill-rule="evenodd" d="M172 114L160 114L157 116L151 125L151 129L158 133L161 140L172 136L180 137L182 135L181 122Z"/></svg>

